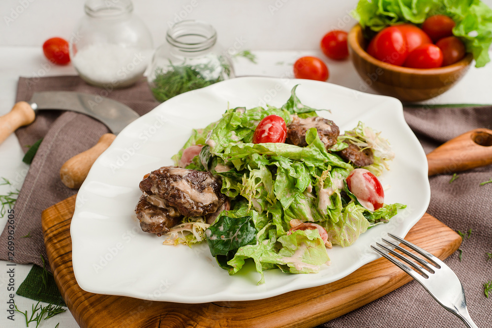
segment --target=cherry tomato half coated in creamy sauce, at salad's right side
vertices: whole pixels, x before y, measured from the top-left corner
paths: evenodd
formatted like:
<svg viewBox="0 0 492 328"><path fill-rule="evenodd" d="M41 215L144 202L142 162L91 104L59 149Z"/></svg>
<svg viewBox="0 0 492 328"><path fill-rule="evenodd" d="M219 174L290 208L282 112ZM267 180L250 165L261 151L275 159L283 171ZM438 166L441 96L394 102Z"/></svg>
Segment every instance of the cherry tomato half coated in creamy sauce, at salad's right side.
<svg viewBox="0 0 492 328"><path fill-rule="evenodd" d="M384 190L381 182L366 169L355 169L345 179L348 189L362 206L370 211L384 205Z"/></svg>

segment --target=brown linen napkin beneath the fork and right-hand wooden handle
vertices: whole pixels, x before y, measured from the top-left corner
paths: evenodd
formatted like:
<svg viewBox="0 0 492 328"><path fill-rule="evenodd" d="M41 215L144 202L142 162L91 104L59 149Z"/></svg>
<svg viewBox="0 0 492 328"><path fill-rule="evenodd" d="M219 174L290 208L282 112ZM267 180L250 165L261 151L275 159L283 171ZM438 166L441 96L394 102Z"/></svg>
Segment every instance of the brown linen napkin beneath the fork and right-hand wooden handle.
<svg viewBox="0 0 492 328"><path fill-rule="evenodd" d="M469 108L405 108L405 119L426 153L458 135L491 128L492 106ZM492 166L430 178L428 213L451 229L466 233L460 252L444 262L461 280L468 311L478 327L492 326L492 295L486 298L483 284L492 279ZM432 238L432 236L429 236ZM458 317L442 308L416 281L355 311L329 321L323 328L464 327Z"/></svg>

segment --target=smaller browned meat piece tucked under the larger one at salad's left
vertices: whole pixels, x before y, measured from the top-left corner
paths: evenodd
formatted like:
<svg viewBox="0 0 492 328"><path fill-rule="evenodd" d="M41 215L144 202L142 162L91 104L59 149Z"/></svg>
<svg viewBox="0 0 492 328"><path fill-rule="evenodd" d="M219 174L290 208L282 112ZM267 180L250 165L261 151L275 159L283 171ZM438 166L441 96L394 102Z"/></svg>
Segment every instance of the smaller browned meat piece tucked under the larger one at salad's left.
<svg viewBox="0 0 492 328"><path fill-rule="evenodd" d="M142 231L161 236L177 225L183 216L175 209L163 209L152 205L142 195L135 208Z"/></svg>

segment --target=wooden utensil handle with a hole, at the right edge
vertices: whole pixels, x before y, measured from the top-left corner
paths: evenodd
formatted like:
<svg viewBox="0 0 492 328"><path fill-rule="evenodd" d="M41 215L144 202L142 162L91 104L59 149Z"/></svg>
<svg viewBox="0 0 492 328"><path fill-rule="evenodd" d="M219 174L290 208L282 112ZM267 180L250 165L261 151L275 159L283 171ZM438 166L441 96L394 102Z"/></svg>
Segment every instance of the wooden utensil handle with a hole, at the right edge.
<svg viewBox="0 0 492 328"><path fill-rule="evenodd" d="M492 164L492 130L475 129L442 144L427 155L429 176Z"/></svg>

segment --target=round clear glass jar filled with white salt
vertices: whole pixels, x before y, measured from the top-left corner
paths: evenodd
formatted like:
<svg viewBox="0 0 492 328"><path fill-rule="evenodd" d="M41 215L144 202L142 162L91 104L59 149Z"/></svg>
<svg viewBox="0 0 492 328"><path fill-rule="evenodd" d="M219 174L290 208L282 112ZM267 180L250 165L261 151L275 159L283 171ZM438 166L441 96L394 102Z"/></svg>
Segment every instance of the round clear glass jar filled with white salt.
<svg viewBox="0 0 492 328"><path fill-rule="evenodd" d="M124 88L144 74L152 36L130 0L87 0L86 15L70 40L70 58L80 77L102 88Z"/></svg>

